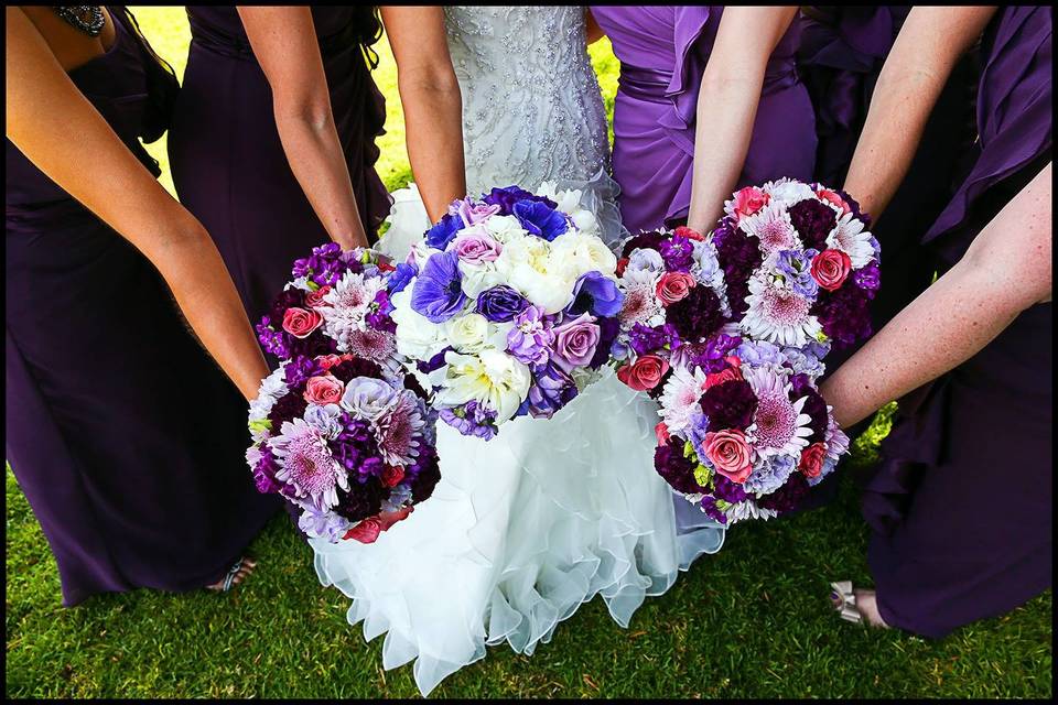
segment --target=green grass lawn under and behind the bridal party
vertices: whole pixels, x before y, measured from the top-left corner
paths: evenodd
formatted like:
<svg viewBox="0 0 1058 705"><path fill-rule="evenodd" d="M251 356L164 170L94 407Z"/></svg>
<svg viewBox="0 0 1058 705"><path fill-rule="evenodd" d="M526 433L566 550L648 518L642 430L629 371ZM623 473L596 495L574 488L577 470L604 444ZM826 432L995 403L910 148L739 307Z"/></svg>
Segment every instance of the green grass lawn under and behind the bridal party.
<svg viewBox="0 0 1058 705"><path fill-rule="evenodd" d="M182 73L182 9L137 9L155 48ZM389 99L380 173L410 172L392 57L376 80ZM616 61L592 47L613 107ZM165 164L164 145L152 152ZM852 468L875 457L886 414L854 444ZM7 474L7 666L11 697L409 697L411 668L385 672L381 639L345 620L348 600L323 588L312 552L278 517L255 541L251 579L233 593L101 595L60 606L58 574L10 469ZM1051 595L940 641L838 619L830 579L868 583L866 528L843 478L834 505L737 525L629 629L602 600L584 605L532 658L489 650L436 697L1050 697Z"/></svg>

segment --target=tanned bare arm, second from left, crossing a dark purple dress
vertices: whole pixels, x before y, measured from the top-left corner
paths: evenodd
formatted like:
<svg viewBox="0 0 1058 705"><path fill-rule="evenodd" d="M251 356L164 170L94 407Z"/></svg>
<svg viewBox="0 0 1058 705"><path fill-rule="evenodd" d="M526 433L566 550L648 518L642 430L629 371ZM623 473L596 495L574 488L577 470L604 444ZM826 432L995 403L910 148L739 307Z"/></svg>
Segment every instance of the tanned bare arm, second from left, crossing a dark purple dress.
<svg viewBox="0 0 1058 705"><path fill-rule="evenodd" d="M239 18L272 89L276 127L290 169L331 239L367 246L349 167L307 7L240 7Z"/></svg>

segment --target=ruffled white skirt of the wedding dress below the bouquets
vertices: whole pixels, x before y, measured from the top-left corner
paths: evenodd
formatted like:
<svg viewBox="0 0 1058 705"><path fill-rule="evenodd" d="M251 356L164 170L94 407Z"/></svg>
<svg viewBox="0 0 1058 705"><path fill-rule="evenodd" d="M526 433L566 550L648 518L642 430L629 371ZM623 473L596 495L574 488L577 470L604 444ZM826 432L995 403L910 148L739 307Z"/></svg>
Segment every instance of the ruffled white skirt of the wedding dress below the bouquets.
<svg viewBox="0 0 1058 705"><path fill-rule="evenodd" d="M402 232L403 196L384 242ZM554 417L507 422L488 442L439 424L433 497L374 544L313 540L320 581L352 598L348 621L367 640L386 634L386 669L415 660L424 695L486 646L531 654L595 595L627 627L646 596L724 541L655 473L656 420L654 402L607 371ZM680 503L689 529L678 530Z"/></svg>

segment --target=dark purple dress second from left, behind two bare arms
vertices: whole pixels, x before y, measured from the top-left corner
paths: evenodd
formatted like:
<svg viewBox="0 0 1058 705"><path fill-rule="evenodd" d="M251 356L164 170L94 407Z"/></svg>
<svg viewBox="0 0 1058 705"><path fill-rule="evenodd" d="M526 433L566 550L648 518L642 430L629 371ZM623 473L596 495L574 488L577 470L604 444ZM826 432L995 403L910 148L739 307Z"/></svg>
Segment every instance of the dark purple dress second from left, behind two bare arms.
<svg viewBox="0 0 1058 705"><path fill-rule="evenodd" d="M375 172L386 101L366 48L380 24L366 6L315 7L338 139L368 238L389 214ZM180 200L213 236L250 322L266 314L295 259L330 241L276 129L272 91L234 7L188 7L192 42L169 133Z"/></svg>

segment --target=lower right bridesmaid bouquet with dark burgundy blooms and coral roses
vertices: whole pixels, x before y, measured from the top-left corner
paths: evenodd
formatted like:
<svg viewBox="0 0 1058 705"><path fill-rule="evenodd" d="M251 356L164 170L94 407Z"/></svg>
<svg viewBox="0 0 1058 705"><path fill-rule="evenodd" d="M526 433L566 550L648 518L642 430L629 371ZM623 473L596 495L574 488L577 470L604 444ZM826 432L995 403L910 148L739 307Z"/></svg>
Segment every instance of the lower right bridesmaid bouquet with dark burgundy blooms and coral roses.
<svg viewBox="0 0 1058 705"><path fill-rule="evenodd" d="M794 509L849 449L816 389L825 349L719 334L661 394L655 469L723 524Z"/></svg>

